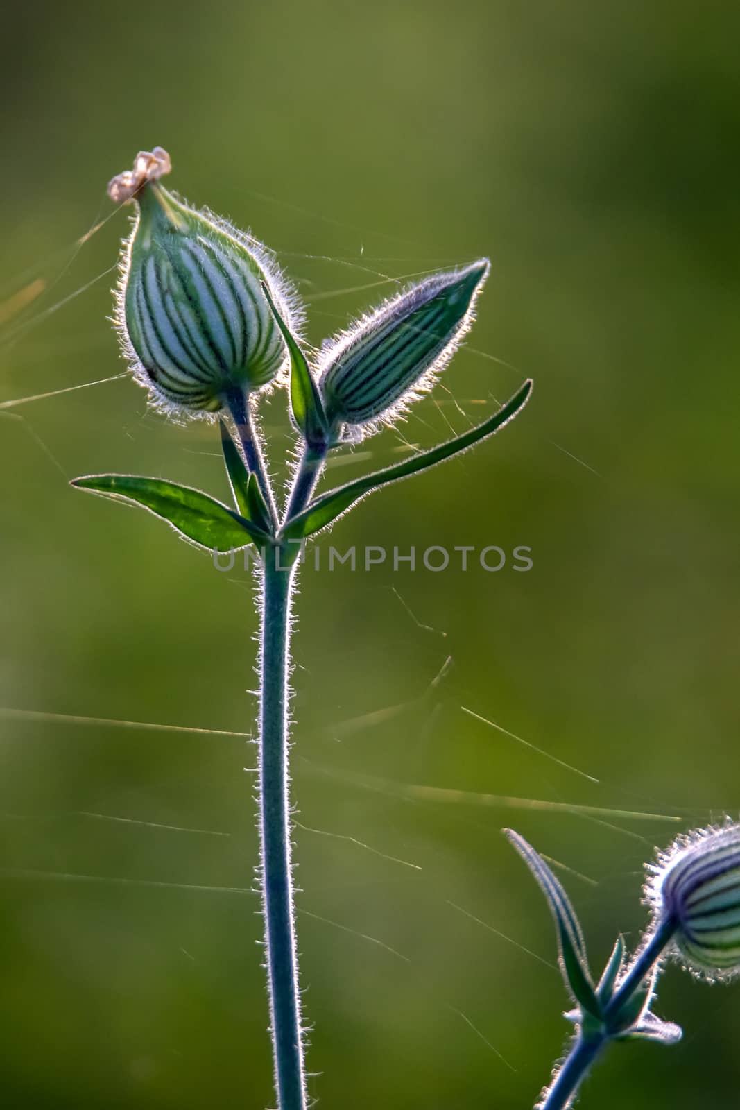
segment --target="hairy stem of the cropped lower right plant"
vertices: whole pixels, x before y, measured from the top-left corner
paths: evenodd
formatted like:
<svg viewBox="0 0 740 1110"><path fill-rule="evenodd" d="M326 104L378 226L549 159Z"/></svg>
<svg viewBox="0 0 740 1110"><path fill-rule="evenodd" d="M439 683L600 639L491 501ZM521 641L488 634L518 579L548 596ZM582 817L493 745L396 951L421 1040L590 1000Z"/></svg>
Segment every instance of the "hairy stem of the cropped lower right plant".
<svg viewBox="0 0 740 1110"><path fill-rule="evenodd" d="M658 926L652 937L639 953L632 967L627 972L611 998L611 1001L604 1010L605 1026L599 1029L580 1030L574 1040L565 1063L560 1068L557 1079L548 1090L545 1099L538 1103L537 1110L568 1110L571 1107L578 1088L588 1074L588 1071L607 1045L614 1039L614 1035L608 1030L608 1021L616 1018L621 1007L629 1001L635 991L650 973L653 963L660 959L666 946L669 944L676 922L666 918Z"/></svg>

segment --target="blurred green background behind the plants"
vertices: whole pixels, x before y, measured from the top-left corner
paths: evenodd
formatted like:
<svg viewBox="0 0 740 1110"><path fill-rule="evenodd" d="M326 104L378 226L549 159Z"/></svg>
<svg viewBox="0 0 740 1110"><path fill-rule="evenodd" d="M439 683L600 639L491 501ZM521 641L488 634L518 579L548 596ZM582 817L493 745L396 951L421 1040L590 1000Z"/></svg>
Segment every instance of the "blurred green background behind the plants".
<svg viewBox="0 0 740 1110"><path fill-rule="evenodd" d="M524 544L534 568L304 571L298 928L320 1106L528 1108L566 999L515 947L554 959L500 827L580 872L597 962L639 936L652 846L737 816L740 10L30 2L4 30L2 402L123 370L104 271L124 215L74 243L142 147L278 252L314 343L388 279L493 260L444 387L333 477L462 431L525 374L528 410L332 542ZM283 397L264 418L278 470ZM223 890L253 882L253 749L6 712L251 733L249 575L64 481L224 496L216 433L148 413L126 380L0 410L0 433L3 1103L273 1106L257 900ZM672 969L657 1009L683 1042L612 1050L584 1106L733 1103L740 988Z"/></svg>

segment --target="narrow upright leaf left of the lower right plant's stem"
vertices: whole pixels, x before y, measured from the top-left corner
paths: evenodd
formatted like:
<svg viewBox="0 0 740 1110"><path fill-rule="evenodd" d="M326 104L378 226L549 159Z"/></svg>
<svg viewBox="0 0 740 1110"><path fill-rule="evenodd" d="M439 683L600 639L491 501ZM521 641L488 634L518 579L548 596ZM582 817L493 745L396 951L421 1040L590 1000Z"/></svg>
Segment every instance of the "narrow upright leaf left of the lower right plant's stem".
<svg viewBox="0 0 740 1110"><path fill-rule="evenodd" d="M557 929L560 970L566 986L585 1010L600 1018L601 1007L588 970L584 935L567 894L543 857L524 837L513 829L504 829L504 835L519 852L547 898Z"/></svg>

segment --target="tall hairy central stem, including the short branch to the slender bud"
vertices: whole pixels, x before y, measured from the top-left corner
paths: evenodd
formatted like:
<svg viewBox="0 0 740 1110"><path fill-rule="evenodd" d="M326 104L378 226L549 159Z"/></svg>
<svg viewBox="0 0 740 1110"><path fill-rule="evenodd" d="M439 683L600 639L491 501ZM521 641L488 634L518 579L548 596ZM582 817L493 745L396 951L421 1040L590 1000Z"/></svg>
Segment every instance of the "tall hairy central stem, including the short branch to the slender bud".
<svg viewBox="0 0 740 1110"><path fill-rule="evenodd" d="M286 519L306 507L325 452L306 448L288 497ZM300 552L280 539L262 566L260 652L260 835L262 891L280 1110L305 1110L295 908L291 869L288 673L291 606Z"/></svg>

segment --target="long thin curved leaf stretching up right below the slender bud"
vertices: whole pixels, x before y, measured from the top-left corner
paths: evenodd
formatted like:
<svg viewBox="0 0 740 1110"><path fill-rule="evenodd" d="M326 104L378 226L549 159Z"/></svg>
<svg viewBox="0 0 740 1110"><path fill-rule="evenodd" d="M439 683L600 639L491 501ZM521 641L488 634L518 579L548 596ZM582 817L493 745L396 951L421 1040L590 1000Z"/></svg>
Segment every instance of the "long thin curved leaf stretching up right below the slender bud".
<svg viewBox="0 0 740 1110"><path fill-rule="evenodd" d="M396 463L384 471L368 474L367 477L357 478L355 482L349 482L338 490L332 490L330 493L324 494L323 497L318 497L303 513L298 513L292 521L288 521L283 529L283 534L286 538L312 536L316 532L321 532L322 528L328 527L337 517L352 508L355 502L374 490L379 490L381 486L387 485L389 482L398 482L401 478L409 477L412 474L418 474L420 471L426 471L430 466L444 462L446 458L452 458L453 455L458 455L463 451L467 451L474 444L498 432L499 428L504 427L508 421L516 416L519 410L526 404L530 392L531 381L528 380L497 413L494 413L493 416L477 427L470 428L469 432L464 432L463 435L458 435L454 440L448 440L447 443L442 443L438 447L433 447L430 451L423 451L418 455L413 455L403 463Z"/></svg>

